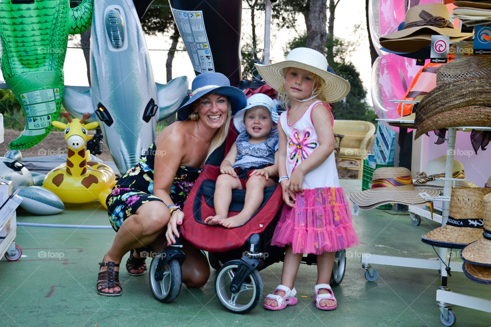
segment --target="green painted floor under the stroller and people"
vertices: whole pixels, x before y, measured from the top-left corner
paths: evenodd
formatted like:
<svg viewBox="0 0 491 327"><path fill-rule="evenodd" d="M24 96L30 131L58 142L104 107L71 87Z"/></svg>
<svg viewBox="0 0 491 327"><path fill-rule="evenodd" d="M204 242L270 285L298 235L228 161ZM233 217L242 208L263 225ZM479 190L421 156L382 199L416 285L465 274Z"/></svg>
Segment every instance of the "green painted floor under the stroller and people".
<svg viewBox="0 0 491 327"><path fill-rule="evenodd" d="M342 180L346 193L361 189L361 180ZM56 224L108 224L96 202L66 205L56 216L32 216L18 212L18 221ZM73 229L19 226L16 244L23 249L17 262L0 262L0 326L442 326L436 306L440 284L437 271L374 266L375 282L367 282L360 264L362 252L436 259L420 236L438 226L423 219L412 226L408 214L396 215L373 209L353 217L360 239L347 252L347 271L334 288L338 309L323 312L313 301L316 267L301 265L296 288L299 303L271 312L258 305L244 315L226 311L213 290L215 273L202 289L183 286L172 303L153 298L148 274L132 277L121 273L123 295L96 293L99 262L110 246L112 229ZM44 255L46 254L46 255ZM44 258L43 258L44 256ZM126 257L123 262L126 261ZM261 271L265 293L280 282L281 263ZM449 287L458 293L491 300L491 287L452 273ZM454 307L454 326L491 326L491 314Z"/></svg>

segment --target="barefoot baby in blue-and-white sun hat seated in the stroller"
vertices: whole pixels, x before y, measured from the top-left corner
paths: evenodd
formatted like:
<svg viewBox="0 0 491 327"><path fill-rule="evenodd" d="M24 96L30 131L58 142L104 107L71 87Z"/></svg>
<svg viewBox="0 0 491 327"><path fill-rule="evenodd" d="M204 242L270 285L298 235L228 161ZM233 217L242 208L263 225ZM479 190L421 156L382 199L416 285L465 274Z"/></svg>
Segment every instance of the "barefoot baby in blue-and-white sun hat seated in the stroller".
<svg viewBox="0 0 491 327"><path fill-rule="evenodd" d="M215 185L213 203L215 216L205 219L207 224L220 224L227 228L245 224L263 200L264 188L276 185L278 169L275 153L278 150L276 102L264 94L255 94L247 100L247 106L234 115L234 126L240 133L225 159ZM232 190L245 189L242 211L228 217Z"/></svg>

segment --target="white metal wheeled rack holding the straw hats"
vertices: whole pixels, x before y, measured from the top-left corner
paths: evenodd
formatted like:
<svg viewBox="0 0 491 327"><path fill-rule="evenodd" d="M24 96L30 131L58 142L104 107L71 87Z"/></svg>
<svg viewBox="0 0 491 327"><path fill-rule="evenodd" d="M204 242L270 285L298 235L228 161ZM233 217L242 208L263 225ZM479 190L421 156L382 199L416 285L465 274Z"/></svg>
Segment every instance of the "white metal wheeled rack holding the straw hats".
<svg viewBox="0 0 491 327"><path fill-rule="evenodd" d="M489 5L491 7L491 5ZM490 15L491 16L491 15ZM489 18L491 20L491 17ZM459 43L457 43L457 48ZM458 50L458 49L457 49ZM455 59L458 59L459 51L456 51ZM407 100L398 100L393 99L391 102L399 102L404 104L413 104L417 105L420 101L407 101ZM407 116L404 116L403 110L400 110L400 118L398 119L377 119L378 121L386 122L389 125L403 128L415 128L413 117L408 119ZM450 201L452 195L452 187L455 186L455 181L457 179L453 177L453 162L454 162L454 153L455 153L455 141L457 130L471 132L473 130L476 131L491 131L491 127L480 127L480 126L445 126L448 128L447 138L447 162L445 166L445 177L441 178L443 180L443 192L441 195L436 197L426 197L428 201L442 201L442 211L440 222L441 226L447 225L449 220L449 208ZM458 181L465 181L464 179L458 179ZM454 184L454 185L453 185ZM425 218L430 218L429 212L423 209L420 205L410 205L409 206L410 215L412 218L413 225L419 225L420 216ZM411 212L413 210L413 212ZM433 218L435 218L433 216ZM472 244L472 243L471 243ZM437 307L440 310L440 320L444 325L451 326L455 323L456 315L452 310L452 305L475 309L479 311L489 312L491 313L491 300L478 298L475 296L469 296L465 294L459 294L456 292L452 292L448 288L448 277L449 272L463 272L462 263L461 262L450 262L449 254L451 253L451 248L447 247L439 247L438 256L440 260L427 260L427 259L419 259L419 258L405 258L405 257L396 257L396 256L387 256L387 255L378 255L373 253L362 253L361 263L362 267L366 270L365 277L368 281L372 282L378 277L378 273L373 267L373 265L389 265L389 266L397 266L397 267L411 267L411 268L421 268L421 269L432 269L440 271L441 281L440 287L436 291L436 301ZM448 261L448 262L445 262ZM487 268L487 267L486 267Z"/></svg>

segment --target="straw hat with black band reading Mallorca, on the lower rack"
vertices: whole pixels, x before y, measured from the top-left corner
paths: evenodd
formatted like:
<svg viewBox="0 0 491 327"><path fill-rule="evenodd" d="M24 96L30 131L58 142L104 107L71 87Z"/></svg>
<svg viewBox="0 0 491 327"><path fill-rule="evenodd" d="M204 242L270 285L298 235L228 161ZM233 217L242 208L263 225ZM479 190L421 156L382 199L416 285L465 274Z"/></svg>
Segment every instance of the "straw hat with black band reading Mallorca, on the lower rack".
<svg viewBox="0 0 491 327"><path fill-rule="evenodd" d="M463 248L482 235L482 200L491 193L485 188L455 188L450 200L447 225L421 236L421 241L438 247Z"/></svg>

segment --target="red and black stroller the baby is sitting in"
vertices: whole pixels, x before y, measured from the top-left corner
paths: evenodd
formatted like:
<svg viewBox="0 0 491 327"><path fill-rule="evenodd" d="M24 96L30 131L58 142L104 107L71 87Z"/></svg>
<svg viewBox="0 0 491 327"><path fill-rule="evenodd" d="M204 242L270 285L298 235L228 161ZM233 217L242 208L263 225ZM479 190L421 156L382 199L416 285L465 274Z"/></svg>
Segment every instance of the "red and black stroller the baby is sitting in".
<svg viewBox="0 0 491 327"><path fill-rule="evenodd" d="M259 270L283 259L284 248L271 246L271 238L283 203L281 187L264 190L264 200L254 216L244 225L225 228L207 225L203 221L214 215L213 195L215 180L220 174L219 165L232 146L237 133L233 124L225 146L217 149L207 160L184 205L182 236L198 249L208 251L208 260L217 270L215 293L220 303L229 311L245 313L253 309L262 298L263 282ZM232 193L231 214L243 208L245 190ZM150 288L162 302L172 301L181 289L181 265L184 254L180 245L168 246L151 262ZM315 264L314 255L302 260ZM336 253L331 286L339 285L346 269L346 251Z"/></svg>

